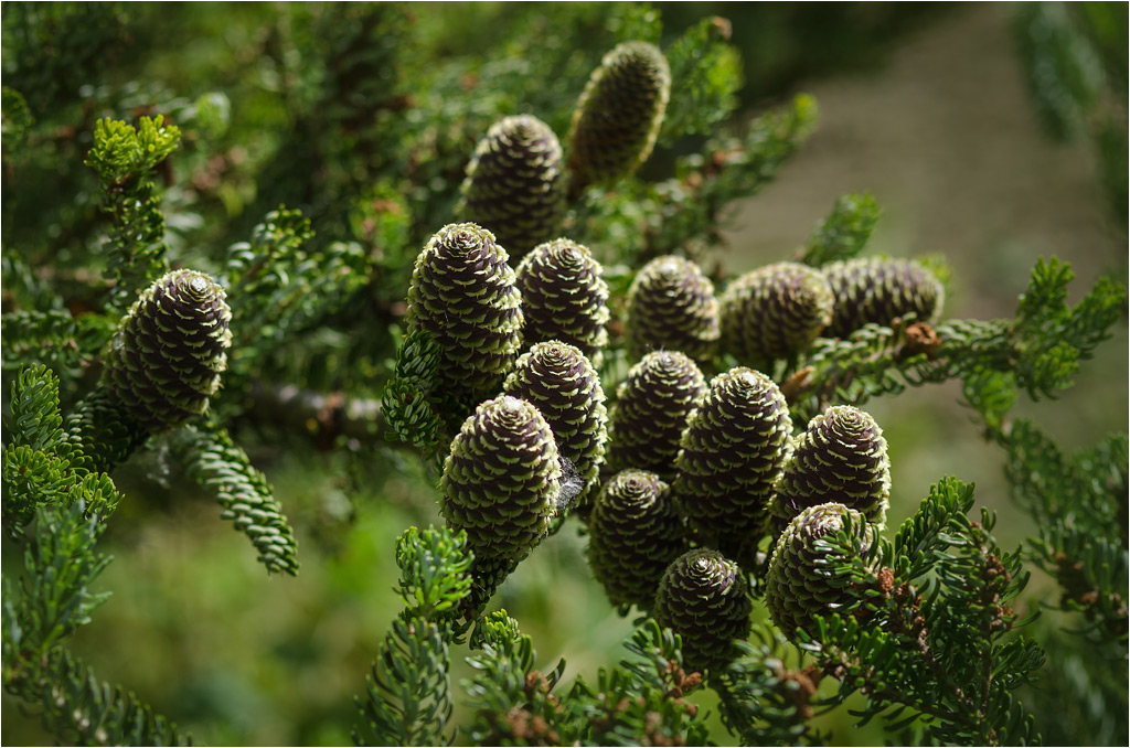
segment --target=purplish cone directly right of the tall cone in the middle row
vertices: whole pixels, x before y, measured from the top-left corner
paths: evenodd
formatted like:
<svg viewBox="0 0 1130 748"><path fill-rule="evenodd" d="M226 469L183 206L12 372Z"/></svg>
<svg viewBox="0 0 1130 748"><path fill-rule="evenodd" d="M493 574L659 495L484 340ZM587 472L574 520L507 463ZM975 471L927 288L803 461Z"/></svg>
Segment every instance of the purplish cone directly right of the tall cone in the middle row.
<svg viewBox="0 0 1130 748"><path fill-rule="evenodd" d="M558 238L533 247L518 264L527 346L560 340L600 367L608 345L608 284L589 247Z"/></svg>

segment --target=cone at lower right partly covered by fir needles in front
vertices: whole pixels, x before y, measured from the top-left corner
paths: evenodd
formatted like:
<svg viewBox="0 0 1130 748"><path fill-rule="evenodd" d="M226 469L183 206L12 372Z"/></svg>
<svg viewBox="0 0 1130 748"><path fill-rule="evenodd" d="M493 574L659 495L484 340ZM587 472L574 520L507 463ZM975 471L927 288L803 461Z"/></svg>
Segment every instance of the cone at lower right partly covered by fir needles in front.
<svg viewBox="0 0 1130 748"><path fill-rule="evenodd" d="M794 638L814 614L829 616L855 601L832 575L837 560L816 541L850 528L863 553L875 540L875 528L862 514L843 504L818 504L793 517L777 538L765 579L765 606L782 633Z"/></svg>

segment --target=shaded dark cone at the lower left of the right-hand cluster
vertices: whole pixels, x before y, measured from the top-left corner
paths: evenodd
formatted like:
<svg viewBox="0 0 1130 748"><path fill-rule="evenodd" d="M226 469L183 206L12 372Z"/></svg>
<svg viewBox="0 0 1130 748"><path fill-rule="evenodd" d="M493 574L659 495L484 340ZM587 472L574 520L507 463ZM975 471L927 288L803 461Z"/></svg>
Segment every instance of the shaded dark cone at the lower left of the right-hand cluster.
<svg viewBox="0 0 1130 748"><path fill-rule="evenodd" d="M667 566L687 549L670 487L625 470L601 487L589 521L589 566L616 606L650 610Z"/></svg>

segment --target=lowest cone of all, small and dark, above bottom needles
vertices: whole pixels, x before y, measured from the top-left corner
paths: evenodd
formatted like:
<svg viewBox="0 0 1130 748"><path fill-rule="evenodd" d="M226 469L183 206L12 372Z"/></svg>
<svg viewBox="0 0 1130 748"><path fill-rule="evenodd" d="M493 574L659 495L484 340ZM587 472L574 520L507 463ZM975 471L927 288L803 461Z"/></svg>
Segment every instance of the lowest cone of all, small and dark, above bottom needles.
<svg viewBox="0 0 1130 748"><path fill-rule="evenodd" d="M749 635L748 584L738 565L716 550L690 550L671 562L659 582L654 617L683 637L683 663L702 671L737 653Z"/></svg>

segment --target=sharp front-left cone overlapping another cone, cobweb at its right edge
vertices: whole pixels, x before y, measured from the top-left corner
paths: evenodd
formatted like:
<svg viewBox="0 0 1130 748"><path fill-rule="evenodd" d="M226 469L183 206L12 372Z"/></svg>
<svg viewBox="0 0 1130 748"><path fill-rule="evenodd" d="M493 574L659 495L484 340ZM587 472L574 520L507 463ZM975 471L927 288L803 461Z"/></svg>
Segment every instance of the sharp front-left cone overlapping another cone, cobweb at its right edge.
<svg viewBox="0 0 1130 748"><path fill-rule="evenodd" d="M481 403L451 443L440 512L479 558L521 559L546 534L560 490L549 424L524 400Z"/></svg>

